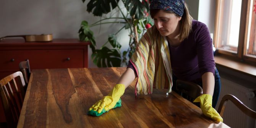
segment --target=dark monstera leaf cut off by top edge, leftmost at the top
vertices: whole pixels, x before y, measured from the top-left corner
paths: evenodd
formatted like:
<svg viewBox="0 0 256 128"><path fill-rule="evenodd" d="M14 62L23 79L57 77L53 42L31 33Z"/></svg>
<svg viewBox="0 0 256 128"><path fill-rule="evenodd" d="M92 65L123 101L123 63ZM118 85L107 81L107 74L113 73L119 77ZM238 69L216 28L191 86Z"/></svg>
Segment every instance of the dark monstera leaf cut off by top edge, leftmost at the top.
<svg viewBox="0 0 256 128"><path fill-rule="evenodd" d="M85 2L85 0L82 0ZM90 2L87 4L87 11L94 16L102 16L102 14L107 14L117 7L119 0L90 0ZM111 5L111 7L110 7Z"/></svg>

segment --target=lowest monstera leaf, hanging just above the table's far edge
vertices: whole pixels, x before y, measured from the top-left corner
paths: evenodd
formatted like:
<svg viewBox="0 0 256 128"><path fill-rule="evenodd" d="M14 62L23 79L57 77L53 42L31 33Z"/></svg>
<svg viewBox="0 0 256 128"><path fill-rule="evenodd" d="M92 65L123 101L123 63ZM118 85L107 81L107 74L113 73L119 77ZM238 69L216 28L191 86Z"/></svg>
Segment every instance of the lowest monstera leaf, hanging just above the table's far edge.
<svg viewBox="0 0 256 128"><path fill-rule="evenodd" d="M92 60L98 67L118 67L121 65L120 53L116 49L107 47L96 49L96 52L92 53Z"/></svg>

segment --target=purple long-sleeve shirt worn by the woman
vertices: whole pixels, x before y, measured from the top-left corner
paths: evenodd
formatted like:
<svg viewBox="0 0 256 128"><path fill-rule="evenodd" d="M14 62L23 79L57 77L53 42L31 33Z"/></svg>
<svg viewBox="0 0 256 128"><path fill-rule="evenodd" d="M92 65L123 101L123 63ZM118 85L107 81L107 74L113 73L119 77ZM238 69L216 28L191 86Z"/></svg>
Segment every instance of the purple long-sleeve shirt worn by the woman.
<svg viewBox="0 0 256 128"><path fill-rule="evenodd" d="M178 79L193 81L201 79L206 72L215 75L212 39L204 23L193 20L188 38L178 47L170 46L169 42L168 45L172 71ZM128 67L135 71L130 62Z"/></svg>

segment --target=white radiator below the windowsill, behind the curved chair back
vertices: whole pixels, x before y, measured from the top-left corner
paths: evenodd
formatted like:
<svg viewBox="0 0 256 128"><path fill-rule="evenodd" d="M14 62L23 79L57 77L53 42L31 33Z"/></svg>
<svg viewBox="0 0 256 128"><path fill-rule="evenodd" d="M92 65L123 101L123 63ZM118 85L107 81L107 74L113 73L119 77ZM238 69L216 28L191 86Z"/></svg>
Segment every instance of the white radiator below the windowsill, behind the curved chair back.
<svg viewBox="0 0 256 128"><path fill-rule="evenodd" d="M232 94L237 97L243 104L252 110L256 110L256 98L253 91L255 91L256 86L246 87L236 84L227 79L221 78L221 92L220 97L216 106L216 110L219 107L221 98L225 94ZM256 128L255 119L247 116L241 110L239 110L231 101L228 101L224 110L223 115L224 123L231 128Z"/></svg>

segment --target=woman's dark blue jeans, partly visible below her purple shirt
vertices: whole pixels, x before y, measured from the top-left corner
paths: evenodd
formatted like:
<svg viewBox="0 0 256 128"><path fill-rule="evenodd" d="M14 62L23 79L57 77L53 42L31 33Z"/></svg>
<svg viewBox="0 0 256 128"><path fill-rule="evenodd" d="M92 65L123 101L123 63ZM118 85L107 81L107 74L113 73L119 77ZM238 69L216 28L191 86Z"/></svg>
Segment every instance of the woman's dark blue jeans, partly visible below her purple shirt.
<svg viewBox="0 0 256 128"><path fill-rule="evenodd" d="M212 96L212 107L215 108L216 104L218 102L219 96L220 96L220 88L221 88L221 83L220 83L220 75L219 75L219 71L217 70L217 68L215 67L215 84L214 84L214 92L213 92L213 96ZM177 92L176 90L176 80L177 77L172 75L172 82L173 82L173 86L172 86L172 90ZM193 83L198 84L199 86L201 86L203 88L203 83L200 80L196 80L196 81L191 81Z"/></svg>

